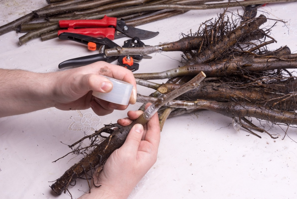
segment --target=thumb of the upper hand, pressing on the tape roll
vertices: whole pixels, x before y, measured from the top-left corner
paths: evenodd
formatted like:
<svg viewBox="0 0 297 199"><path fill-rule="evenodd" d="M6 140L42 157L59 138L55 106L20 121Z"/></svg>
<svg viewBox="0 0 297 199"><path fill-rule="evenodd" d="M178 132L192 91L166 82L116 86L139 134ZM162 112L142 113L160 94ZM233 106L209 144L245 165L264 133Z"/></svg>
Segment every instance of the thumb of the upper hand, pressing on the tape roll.
<svg viewBox="0 0 297 199"><path fill-rule="evenodd" d="M81 79L81 88L85 88L88 91L96 91L100 93L108 93L112 90L113 84L110 80L102 75L86 74Z"/></svg>

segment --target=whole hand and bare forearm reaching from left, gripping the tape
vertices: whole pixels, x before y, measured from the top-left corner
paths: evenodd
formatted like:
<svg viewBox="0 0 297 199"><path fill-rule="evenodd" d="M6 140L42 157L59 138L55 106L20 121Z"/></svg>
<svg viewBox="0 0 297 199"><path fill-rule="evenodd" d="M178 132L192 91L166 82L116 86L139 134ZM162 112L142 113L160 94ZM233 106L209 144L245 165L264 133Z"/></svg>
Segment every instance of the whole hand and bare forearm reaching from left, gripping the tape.
<svg viewBox="0 0 297 199"><path fill-rule="evenodd" d="M135 104L136 82L133 73L104 61L52 73L0 69L0 117L49 107L60 110L91 107L98 115L107 115L114 109L125 110L128 105L99 101L92 96L92 91L106 93L112 89L110 80L102 75L132 84L129 103Z"/></svg>

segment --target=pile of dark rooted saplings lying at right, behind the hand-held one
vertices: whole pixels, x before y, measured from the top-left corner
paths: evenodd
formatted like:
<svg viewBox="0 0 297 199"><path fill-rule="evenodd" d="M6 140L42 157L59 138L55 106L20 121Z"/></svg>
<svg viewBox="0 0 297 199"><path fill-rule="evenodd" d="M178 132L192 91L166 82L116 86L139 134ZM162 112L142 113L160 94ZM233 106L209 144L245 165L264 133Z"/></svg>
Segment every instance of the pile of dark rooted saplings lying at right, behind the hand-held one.
<svg viewBox="0 0 297 199"><path fill-rule="evenodd" d="M266 21L266 17L260 15L238 26L238 20L224 19L221 15L215 22L203 23L195 36L143 49L143 54L182 50L187 63L164 72L135 74L138 84L157 90L150 97L139 95L138 99L153 102L159 93L176 89L192 75L203 71L207 78L199 90L186 92L159 112L161 125L168 117L207 109L233 118L234 128L242 127L259 138L255 130L266 132L274 139L277 137L254 125L252 118L272 125L296 127L297 79L293 75L296 72L290 70L297 68L297 54L291 54L287 46L268 50L268 45L276 40L269 36L274 25L259 29ZM128 51L113 49L108 54ZM147 81L165 78L170 79L161 85Z"/></svg>

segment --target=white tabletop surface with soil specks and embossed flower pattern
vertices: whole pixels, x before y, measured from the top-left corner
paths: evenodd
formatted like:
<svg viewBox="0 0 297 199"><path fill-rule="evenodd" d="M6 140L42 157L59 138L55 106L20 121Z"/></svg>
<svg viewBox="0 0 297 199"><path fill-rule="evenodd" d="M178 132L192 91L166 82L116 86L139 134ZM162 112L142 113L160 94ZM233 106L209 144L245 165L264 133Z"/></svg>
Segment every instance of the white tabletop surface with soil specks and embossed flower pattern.
<svg viewBox="0 0 297 199"><path fill-rule="evenodd" d="M45 0L0 0L0 26L45 5ZM231 10L237 9L242 12L239 7ZM288 45L295 52L297 3L268 4L259 10L269 18L287 21L286 26L278 23L272 29L271 36L278 42L271 49ZM158 45L178 40L181 32L195 32L200 23L221 12L189 11L138 28L159 31L157 37L144 40L148 45ZM58 39L34 39L18 46L22 35L12 31L0 36L0 67L51 72L57 71L64 60L97 53L76 42ZM115 42L122 45L125 39ZM152 54L153 59L143 59L135 73L178 67L180 55L181 52ZM152 90L138 86L138 92L150 94ZM139 105L127 110L137 110ZM54 195L49 181L59 178L80 157L70 155L56 163L52 161L70 152L65 144L82 138L84 131L90 134L103 124L115 123L126 116L127 110L97 116L91 109L49 108L0 118L0 198L70 198L67 194ZM260 139L243 129L236 132L230 123L232 119L207 110L168 119L161 132L157 162L129 198L297 198L296 129L289 129L282 140L284 132L274 127L270 132L280 138L273 140L260 133ZM78 198L88 191L88 185L79 180L69 190L73 198Z"/></svg>

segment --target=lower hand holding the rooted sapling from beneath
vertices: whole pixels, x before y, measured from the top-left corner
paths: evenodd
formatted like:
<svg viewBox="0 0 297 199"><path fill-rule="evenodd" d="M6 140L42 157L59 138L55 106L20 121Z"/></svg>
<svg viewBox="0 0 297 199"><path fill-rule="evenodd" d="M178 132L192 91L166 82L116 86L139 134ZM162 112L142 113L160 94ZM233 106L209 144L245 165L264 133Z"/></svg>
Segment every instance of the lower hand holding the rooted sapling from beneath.
<svg viewBox="0 0 297 199"><path fill-rule="evenodd" d="M129 111L128 118L119 119L118 123L129 125L142 113L140 110ZM156 113L144 127L141 124L132 127L125 143L110 155L99 176L94 174L96 186L92 186L91 193L80 199L126 199L156 162L159 141L160 126Z"/></svg>

